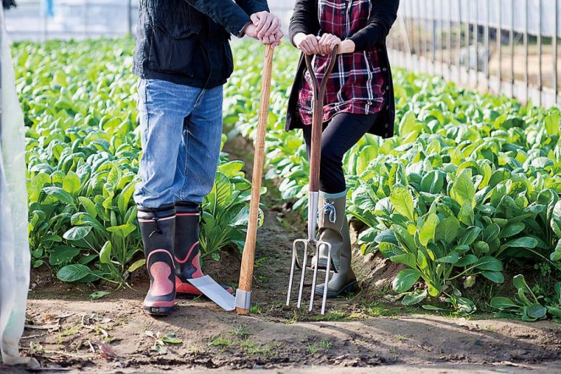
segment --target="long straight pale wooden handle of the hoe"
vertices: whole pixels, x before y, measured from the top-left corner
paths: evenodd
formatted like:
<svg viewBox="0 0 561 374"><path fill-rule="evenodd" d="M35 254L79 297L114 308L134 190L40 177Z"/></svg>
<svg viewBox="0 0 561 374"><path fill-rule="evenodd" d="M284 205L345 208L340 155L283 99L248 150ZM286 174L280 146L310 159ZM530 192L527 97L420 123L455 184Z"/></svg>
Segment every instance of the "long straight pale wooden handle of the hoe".
<svg viewBox="0 0 561 374"><path fill-rule="evenodd" d="M257 221L259 219L259 198L261 195L261 180L263 175L263 159L265 154L265 134L267 119L269 118L269 98L271 96L271 73L273 69L273 48L265 47L265 63L263 66L263 79L261 102L259 104L259 120L257 122L257 137L255 137L255 159L253 160L253 176L251 181L250 215L248 220L248 233L245 235L243 255L241 258L240 283L238 291L245 294L245 300L250 300L253 280L253 265L255 263L255 240L257 239ZM244 307L236 305L238 314L249 314L248 302Z"/></svg>

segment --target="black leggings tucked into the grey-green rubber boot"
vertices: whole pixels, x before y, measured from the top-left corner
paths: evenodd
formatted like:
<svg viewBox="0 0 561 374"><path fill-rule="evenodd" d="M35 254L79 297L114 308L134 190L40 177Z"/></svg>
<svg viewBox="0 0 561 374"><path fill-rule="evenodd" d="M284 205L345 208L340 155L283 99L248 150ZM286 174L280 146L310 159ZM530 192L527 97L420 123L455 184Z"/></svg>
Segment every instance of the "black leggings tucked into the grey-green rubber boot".
<svg viewBox="0 0 561 374"><path fill-rule="evenodd" d="M339 113L323 124L321 137L320 190L341 193L346 190L343 157L376 120L377 114ZM310 158L311 126L304 125L304 140Z"/></svg>

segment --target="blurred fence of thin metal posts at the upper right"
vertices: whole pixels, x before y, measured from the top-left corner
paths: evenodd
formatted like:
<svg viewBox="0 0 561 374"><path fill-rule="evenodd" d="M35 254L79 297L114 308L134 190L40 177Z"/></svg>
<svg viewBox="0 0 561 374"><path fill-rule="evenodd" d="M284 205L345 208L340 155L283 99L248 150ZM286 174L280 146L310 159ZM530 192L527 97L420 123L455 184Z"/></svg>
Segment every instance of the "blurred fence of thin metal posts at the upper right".
<svg viewBox="0 0 561 374"><path fill-rule="evenodd" d="M470 88L561 102L561 0L401 0L391 60Z"/></svg>

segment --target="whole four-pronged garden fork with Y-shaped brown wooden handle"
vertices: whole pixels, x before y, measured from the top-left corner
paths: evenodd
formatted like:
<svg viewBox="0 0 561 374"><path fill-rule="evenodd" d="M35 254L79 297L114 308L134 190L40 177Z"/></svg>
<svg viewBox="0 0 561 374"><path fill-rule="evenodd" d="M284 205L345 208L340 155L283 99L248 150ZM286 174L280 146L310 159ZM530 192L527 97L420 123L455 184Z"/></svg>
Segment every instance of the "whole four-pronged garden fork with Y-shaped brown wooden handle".
<svg viewBox="0 0 561 374"><path fill-rule="evenodd" d="M302 268L302 275L300 276L300 286L298 290L297 307L302 304L302 291L304 289L304 277L306 270L313 271L311 282L311 297L309 312L313 307L313 296L316 293L316 279L318 278L318 266L311 265L306 267L308 263L308 256L319 254L318 248L322 245L327 247L327 268L325 270L325 286L323 287L323 301L321 303L321 314L325 314L325 303L327 301L327 282L329 282L330 264L331 264L331 244L316 239L316 226L318 219L318 200L319 200L319 182L320 182L320 155L321 155L321 134L323 132L323 99L325 97L325 88L327 87L327 78L331 75L335 62L337 61L337 46L333 48L331 60L325 76L321 82L318 82L316 74L313 72L312 57L307 56L306 67L308 68L311 76L311 83L313 87L313 119L311 124L311 152L310 152L310 186L309 186L309 201L308 201L308 238L297 239L292 243L292 265L290 265L290 280L288 283L288 295L286 296L286 305L290 305L290 296L292 293L292 279L294 278L295 267ZM302 248L302 264L299 262L298 251L299 247ZM317 264L318 261L316 261Z"/></svg>

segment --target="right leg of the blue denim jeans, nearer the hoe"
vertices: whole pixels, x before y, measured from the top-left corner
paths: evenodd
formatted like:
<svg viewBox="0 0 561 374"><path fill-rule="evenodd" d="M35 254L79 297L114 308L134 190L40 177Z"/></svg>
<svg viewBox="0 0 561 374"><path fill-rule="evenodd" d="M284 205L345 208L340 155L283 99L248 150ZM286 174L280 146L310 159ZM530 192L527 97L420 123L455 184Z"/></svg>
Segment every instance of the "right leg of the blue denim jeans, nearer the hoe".
<svg viewBox="0 0 561 374"><path fill-rule="evenodd" d="M179 200L203 202L214 185L222 140L222 86L204 90L187 118L187 165Z"/></svg>

